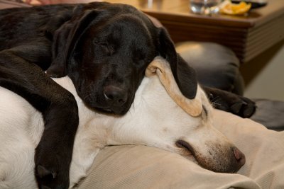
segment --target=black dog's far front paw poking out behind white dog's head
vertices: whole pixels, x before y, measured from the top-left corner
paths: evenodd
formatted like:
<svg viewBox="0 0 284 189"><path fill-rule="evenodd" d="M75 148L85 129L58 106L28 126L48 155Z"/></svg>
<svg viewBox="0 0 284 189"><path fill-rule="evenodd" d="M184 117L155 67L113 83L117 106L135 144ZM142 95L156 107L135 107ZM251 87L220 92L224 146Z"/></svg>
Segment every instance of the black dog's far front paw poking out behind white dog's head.
<svg viewBox="0 0 284 189"><path fill-rule="evenodd" d="M202 86L214 108L224 110L242 118L250 118L256 110L256 103L249 98L239 96L218 88Z"/></svg>

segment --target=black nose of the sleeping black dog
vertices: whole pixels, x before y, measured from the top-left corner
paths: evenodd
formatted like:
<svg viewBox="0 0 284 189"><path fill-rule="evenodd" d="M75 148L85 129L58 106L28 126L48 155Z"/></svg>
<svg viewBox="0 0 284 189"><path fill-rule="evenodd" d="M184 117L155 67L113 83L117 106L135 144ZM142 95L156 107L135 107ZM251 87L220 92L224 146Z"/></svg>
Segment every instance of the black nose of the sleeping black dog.
<svg viewBox="0 0 284 189"><path fill-rule="evenodd" d="M104 96L108 101L112 101L116 105L122 105L127 100L127 92L123 88L112 85L104 88Z"/></svg>

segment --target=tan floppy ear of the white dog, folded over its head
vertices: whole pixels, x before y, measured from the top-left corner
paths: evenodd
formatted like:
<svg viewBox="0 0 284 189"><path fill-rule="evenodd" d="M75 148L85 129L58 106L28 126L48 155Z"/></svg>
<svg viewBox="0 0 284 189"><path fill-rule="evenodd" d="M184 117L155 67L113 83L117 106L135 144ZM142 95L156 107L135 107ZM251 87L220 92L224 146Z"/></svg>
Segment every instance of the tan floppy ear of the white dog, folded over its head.
<svg viewBox="0 0 284 189"><path fill-rule="evenodd" d="M185 110L186 113L193 117L197 117L202 113L202 100L199 86L197 86L197 94L194 99L183 96L180 88L178 88L178 84L175 82L170 64L163 59L163 57L155 57L153 62L151 62L146 69L146 76L149 77L155 74L158 75L160 82L163 84L170 97L173 98L173 101L175 101L180 108Z"/></svg>

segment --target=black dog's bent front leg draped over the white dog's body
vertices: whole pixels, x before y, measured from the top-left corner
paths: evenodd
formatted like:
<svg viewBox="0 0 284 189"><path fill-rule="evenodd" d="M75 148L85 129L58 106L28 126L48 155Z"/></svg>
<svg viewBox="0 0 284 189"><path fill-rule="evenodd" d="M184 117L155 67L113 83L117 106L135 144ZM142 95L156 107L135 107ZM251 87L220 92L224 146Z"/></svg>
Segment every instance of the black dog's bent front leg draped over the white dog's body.
<svg viewBox="0 0 284 189"><path fill-rule="evenodd" d="M0 86L26 99L43 114L45 129L35 149L39 188L68 188L75 133L79 124L74 96L40 67L13 52L0 52Z"/></svg>

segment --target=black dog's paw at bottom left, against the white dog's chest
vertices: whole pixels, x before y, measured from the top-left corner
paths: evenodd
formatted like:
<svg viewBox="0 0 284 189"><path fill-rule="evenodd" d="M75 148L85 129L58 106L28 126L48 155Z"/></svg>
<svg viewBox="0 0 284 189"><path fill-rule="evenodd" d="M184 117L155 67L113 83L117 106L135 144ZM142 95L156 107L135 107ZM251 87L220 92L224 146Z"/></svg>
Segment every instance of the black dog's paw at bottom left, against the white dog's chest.
<svg viewBox="0 0 284 189"><path fill-rule="evenodd" d="M60 151L40 145L35 149L35 178L40 189L69 188L69 165Z"/></svg>

